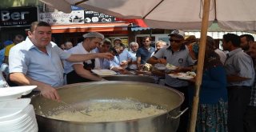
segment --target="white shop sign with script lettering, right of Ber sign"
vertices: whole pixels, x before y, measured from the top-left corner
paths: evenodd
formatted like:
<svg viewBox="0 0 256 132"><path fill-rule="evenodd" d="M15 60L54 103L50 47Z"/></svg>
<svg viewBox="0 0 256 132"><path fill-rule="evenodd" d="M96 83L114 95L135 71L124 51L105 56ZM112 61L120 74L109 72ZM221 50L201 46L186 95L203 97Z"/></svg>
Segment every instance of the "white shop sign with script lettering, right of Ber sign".
<svg viewBox="0 0 256 132"><path fill-rule="evenodd" d="M50 25L83 24L84 11L73 10L70 14L65 14L62 11L40 13L39 20L48 22Z"/></svg>

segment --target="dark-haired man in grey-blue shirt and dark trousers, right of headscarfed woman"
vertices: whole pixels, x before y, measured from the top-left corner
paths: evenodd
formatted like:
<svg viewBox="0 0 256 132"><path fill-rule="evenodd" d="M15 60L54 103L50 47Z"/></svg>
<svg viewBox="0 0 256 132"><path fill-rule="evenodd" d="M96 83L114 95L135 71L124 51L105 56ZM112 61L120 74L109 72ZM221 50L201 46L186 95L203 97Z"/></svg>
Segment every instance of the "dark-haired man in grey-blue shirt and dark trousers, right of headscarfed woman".
<svg viewBox="0 0 256 132"><path fill-rule="evenodd" d="M225 62L228 90L228 131L243 132L246 106L250 102L250 89L254 82L254 64L242 51L240 38L236 34L224 34L223 50L228 50Z"/></svg>

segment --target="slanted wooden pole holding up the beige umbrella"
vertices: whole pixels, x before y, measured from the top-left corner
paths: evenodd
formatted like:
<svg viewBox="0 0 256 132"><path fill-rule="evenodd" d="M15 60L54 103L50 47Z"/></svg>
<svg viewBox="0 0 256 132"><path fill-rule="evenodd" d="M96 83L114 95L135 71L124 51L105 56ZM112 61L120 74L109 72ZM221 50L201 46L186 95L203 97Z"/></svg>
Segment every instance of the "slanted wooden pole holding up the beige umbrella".
<svg viewBox="0 0 256 132"><path fill-rule="evenodd" d="M202 14L202 27L201 27L201 38L199 44L199 53L198 53L198 66L197 66L197 76L195 80L195 92L192 104L192 111L190 117L190 132L195 131L197 115L198 115L198 102L199 102L199 92L200 86L202 84L202 71L203 64L205 58L205 50L206 50L206 34L208 29L209 22L209 13L210 12L210 0L204 0L203 4L203 14Z"/></svg>

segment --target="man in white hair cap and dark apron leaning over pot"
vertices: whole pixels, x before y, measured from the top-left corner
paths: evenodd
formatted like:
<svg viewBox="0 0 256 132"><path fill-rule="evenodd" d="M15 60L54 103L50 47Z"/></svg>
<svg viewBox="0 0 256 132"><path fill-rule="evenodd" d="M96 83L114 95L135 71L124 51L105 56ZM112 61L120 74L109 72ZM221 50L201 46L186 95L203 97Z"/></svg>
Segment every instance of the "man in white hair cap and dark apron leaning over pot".
<svg viewBox="0 0 256 132"><path fill-rule="evenodd" d="M83 42L78 43L70 50L70 54L91 54L95 53L95 48L98 47L104 35L98 32L90 32L83 35ZM86 60L85 62L64 62L64 70L66 73L67 84L78 82L92 82L102 81L103 78L94 75L90 72L93 69L100 69L100 62L98 58Z"/></svg>

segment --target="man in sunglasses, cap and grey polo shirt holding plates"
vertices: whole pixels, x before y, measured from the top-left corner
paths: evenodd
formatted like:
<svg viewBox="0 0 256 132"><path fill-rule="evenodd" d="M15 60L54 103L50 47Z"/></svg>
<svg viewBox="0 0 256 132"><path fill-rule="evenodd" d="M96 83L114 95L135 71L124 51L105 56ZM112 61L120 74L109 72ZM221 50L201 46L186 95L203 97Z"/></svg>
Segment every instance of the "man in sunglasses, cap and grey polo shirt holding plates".
<svg viewBox="0 0 256 132"><path fill-rule="evenodd" d="M174 30L169 36L170 46L166 46L158 50L158 52L154 54L147 62L150 64L169 63L177 66L178 68L177 70L174 70L174 72L185 72L187 70L192 70L192 67L190 68L189 66L193 66L195 60L190 57L190 52L187 46L183 44L184 32L182 30ZM184 94L185 100L181 106L181 109L185 109L188 106L187 98L189 83L177 78L171 78L168 74L165 74L165 78L166 86L170 86L171 88L179 90ZM186 113L181 117L178 131L187 131L187 123L188 114Z"/></svg>

